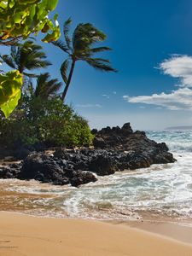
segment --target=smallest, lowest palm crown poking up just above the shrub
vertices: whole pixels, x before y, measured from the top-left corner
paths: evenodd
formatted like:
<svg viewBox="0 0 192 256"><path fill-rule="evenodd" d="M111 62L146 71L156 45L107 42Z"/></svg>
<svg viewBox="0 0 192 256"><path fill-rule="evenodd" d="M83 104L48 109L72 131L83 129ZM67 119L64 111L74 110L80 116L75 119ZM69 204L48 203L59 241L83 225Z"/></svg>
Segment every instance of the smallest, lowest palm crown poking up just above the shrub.
<svg viewBox="0 0 192 256"><path fill-rule="evenodd" d="M62 83L58 79L50 79L49 73L41 73L37 79L34 96L47 100L49 96L54 96L61 86Z"/></svg>

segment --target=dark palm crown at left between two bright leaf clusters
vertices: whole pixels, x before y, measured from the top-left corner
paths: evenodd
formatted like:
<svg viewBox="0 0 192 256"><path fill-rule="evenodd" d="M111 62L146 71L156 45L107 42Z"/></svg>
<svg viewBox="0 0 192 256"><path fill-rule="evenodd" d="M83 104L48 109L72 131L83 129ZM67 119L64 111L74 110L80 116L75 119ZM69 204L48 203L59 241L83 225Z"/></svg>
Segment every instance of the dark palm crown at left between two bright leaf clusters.
<svg viewBox="0 0 192 256"><path fill-rule="evenodd" d="M36 77L34 73L26 73L26 70L34 70L51 65L46 61L46 55L43 48L35 44L32 40L24 44L11 46L10 55L1 55L1 59L11 68L14 68L26 77Z"/></svg>

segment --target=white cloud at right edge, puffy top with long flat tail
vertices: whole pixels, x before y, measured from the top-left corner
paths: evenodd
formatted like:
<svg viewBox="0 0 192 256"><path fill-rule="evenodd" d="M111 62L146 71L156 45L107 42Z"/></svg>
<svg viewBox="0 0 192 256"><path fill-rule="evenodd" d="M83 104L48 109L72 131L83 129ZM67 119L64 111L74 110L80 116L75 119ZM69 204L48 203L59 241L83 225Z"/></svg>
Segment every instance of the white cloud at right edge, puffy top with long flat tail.
<svg viewBox="0 0 192 256"><path fill-rule="evenodd" d="M151 96L123 96L127 102L152 104L170 110L192 110L192 56L172 55L160 63L160 70L172 78L180 79L180 88L171 93L162 92Z"/></svg>

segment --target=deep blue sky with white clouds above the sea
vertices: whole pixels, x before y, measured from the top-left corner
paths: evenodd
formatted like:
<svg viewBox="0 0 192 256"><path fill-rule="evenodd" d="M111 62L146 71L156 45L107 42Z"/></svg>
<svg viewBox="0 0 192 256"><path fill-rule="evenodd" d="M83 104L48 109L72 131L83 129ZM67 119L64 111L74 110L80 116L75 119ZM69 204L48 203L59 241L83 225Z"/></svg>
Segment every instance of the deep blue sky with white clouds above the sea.
<svg viewBox="0 0 192 256"><path fill-rule="evenodd" d="M72 18L72 31L79 23L92 23L108 35L98 46L113 49L102 57L118 73L79 61L67 94L67 103L92 128L125 122L135 130L192 125L191 0L60 0L55 12L61 26ZM61 80L67 55L41 44L53 63L49 73Z"/></svg>

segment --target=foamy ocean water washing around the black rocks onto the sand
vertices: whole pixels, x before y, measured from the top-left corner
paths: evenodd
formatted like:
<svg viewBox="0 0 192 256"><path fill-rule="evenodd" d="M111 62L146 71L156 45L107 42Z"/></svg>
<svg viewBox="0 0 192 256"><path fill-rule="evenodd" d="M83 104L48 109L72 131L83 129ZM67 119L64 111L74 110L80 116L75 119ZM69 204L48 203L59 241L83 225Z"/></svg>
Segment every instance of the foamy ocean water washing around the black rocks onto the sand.
<svg viewBox="0 0 192 256"><path fill-rule="evenodd" d="M0 180L0 209L63 218L192 218L192 131L147 131L177 162L98 177L79 189Z"/></svg>

